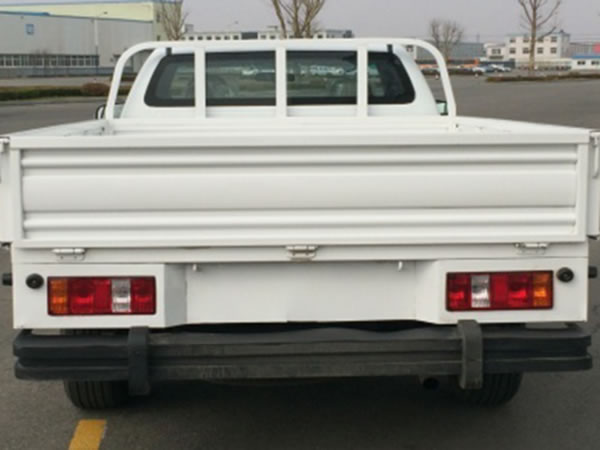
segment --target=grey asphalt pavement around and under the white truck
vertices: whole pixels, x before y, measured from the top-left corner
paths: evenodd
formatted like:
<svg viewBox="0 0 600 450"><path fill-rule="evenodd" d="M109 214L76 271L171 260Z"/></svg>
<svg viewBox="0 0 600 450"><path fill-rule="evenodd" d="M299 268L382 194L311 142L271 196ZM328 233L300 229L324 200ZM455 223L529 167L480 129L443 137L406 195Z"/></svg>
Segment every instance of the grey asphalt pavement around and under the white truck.
<svg viewBox="0 0 600 450"><path fill-rule="evenodd" d="M600 82L487 84L457 77L464 115L600 128ZM93 116L97 101L0 104L0 134ZM600 247L592 245L600 265ZM9 271L0 255L0 273ZM589 328L600 330L600 283L590 284ZM225 386L172 383L117 411L85 413L59 383L13 376L11 292L0 288L0 449L65 449L81 420L101 420L102 449L596 449L600 365L581 373L527 375L500 409L454 402L416 380L343 380ZM592 347L600 358L600 339ZM600 364L600 363L599 363Z"/></svg>

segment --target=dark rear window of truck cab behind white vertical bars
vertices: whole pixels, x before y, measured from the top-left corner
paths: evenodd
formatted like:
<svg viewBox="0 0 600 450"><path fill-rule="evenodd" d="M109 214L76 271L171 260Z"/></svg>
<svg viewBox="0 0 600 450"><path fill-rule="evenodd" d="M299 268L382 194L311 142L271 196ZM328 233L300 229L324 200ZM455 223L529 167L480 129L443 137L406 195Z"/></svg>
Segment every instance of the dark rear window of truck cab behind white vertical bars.
<svg viewBox="0 0 600 450"><path fill-rule="evenodd" d="M369 53L369 103L402 105L415 91L390 52ZM289 51L288 105L356 105L357 55L345 51ZM152 107L195 104L194 55L169 55L158 64L145 95ZM275 106L275 52L207 53L206 106Z"/></svg>

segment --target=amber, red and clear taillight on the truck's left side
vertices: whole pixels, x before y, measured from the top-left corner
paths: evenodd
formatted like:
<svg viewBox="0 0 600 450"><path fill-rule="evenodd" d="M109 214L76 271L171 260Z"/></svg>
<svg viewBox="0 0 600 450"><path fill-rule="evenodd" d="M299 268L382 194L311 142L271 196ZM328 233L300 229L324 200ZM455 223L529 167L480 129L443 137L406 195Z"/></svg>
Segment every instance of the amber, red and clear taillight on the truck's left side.
<svg viewBox="0 0 600 450"><path fill-rule="evenodd" d="M48 279L48 313L52 316L156 313L152 277Z"/></svg>

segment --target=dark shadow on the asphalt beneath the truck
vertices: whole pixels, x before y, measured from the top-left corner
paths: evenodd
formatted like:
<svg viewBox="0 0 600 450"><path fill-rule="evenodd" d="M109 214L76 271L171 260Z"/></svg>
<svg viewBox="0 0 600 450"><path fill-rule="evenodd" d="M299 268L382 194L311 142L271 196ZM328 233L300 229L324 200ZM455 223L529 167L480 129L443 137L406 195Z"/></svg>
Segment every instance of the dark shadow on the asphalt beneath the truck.
<svg viewBox="0 0 600 450"><path fill-rule="evenodd" d="M402 378L170 383L136 400L124 414L128 422L156 430L150 447L143 448L413 450L458 447L465 429L478 423L517 420L515 407L518 411L518 398L499 409L468 407L443 388L427 391L416 379ZM109 435L118 438L115 433L110 426ZM493 448L494 439L487 441L478 443ZM516 437L508 436L503 448L515 443Z"/></svg>

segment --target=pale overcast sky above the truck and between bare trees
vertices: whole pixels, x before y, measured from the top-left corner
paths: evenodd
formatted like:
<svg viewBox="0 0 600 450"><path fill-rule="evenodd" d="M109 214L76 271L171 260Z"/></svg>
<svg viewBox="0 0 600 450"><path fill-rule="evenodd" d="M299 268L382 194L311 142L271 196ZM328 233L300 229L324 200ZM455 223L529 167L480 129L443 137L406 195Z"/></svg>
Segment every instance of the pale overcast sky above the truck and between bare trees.
<svg viewBox="0 0 600 450"><path fill-rule="evenodd" d="M27 0L29 1L29 0ZM1 3L15 3L15 0ZM38 0L39 3L52 2ZM185 0L196 30L253 30L275 25L270 0ZM427 37L433 18L451 19L466 39L502 41L521 31L517 0L327 0L321 28L352 29L360 37ZM560 28L575 40L600 40L600 0L563 0Z"/></svg>

